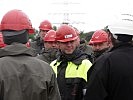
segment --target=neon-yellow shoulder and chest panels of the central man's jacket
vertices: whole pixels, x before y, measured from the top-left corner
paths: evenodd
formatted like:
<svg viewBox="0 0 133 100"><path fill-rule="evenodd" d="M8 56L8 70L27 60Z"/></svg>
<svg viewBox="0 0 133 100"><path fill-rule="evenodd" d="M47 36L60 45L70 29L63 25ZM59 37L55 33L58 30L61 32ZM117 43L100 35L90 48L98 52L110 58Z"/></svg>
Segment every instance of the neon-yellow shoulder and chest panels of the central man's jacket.
<svg viewBox="0 0 133 100"><path fill-rule="evenodd" d="M57 60L54 60L53 62L50 63L50 66L53 68L56 77L57 77L57 66L59 66L60 63L61 62L57 62ZM79 66L75 65L72 62L68 62L65 72L65 78L83 78L85 81L87 81L87 72L91 66L92 63L88 59L84 59Z"/></svg>

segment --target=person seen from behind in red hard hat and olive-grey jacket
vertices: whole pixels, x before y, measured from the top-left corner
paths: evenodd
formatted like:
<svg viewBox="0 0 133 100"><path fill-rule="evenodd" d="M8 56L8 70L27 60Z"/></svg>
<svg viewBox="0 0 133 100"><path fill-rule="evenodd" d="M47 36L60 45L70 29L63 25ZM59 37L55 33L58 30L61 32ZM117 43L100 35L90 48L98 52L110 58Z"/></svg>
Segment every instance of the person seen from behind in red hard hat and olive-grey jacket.
<svg viewBox="0 0 133 100"><path fill-rule="evenodd" d="M60 100L52 68L33 57L32 49L26 47L32 30L27 15L21 10L7 12L0 30L7 44L0 49L0 99Z"/></svg>

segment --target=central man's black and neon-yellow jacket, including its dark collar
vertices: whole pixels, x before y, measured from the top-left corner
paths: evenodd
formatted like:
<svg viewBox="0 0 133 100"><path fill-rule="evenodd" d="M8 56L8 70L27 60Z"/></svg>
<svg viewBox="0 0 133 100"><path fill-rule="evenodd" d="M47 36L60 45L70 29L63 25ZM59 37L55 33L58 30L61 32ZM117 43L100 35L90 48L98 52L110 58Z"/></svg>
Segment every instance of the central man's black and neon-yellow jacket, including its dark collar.
<svg viewBox="0 0 133 100"><path fill-rule="evenodd" d="M92 65L87 55L79 49L69 55L61 53L50 65L56 73L62 100L83 100L87 71Z"/></svg>

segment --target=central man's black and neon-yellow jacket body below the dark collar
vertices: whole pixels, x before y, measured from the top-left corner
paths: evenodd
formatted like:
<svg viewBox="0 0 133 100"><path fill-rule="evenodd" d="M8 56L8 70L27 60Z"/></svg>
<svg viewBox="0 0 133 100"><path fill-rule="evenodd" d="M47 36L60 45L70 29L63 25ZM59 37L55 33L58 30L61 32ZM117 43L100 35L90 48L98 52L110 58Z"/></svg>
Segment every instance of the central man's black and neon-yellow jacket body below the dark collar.
<svg viewBox="0 0 133 100"><path fill-rule="evenodd" d="M58 70L61 61L54 60L51 66L56 73L62 100L82 100L83 89L87 83L87 72L92 63L88 59L82 60L80 65L67 62L67 66ZM64 71L63 71L64 70Z"/></svg>

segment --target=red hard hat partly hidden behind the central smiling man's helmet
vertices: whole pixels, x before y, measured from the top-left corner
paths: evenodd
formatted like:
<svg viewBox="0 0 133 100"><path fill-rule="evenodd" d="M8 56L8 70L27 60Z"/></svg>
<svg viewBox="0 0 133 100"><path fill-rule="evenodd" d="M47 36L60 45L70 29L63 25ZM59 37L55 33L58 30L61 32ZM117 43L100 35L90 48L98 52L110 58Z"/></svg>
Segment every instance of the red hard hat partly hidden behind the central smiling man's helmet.
<svg viewBox="0 0 133 100"><path fill-rule="evenodd" d="M56 31L49 30L43 38L44 41L56 41Z"/></svg>

